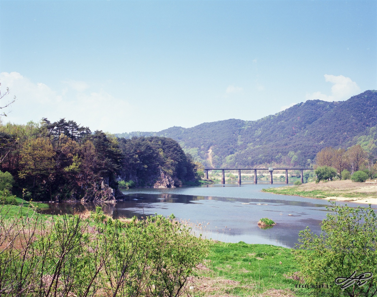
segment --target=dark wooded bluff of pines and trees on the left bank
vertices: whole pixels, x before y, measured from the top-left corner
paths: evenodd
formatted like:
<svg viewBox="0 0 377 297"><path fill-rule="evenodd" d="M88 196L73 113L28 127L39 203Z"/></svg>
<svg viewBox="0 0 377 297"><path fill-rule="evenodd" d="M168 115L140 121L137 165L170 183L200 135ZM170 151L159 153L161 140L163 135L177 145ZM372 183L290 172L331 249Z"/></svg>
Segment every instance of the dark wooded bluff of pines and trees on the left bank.
<svg viewBox="0 0 377 297"><path fill-rule="evenodd" d="M122 178L153 186L163 171L182 183L195 179L194 169L172 139L118 139L65 119L0 126L0 170L26 199L114 200Z"/></svg>

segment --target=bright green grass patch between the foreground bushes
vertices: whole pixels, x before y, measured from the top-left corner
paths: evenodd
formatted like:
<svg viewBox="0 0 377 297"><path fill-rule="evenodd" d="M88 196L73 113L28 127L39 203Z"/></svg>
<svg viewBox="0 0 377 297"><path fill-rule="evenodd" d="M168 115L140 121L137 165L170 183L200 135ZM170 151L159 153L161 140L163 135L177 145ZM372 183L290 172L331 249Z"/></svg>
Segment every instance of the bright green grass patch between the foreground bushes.
<svg viewBox="0 0 377 297"><path fill-rule="evenodd" d="M196 277L187 283L195 295L290 296L299 265L290 248L267 244L215 242ZM293 296L293 295L292 295Z"/></svg>

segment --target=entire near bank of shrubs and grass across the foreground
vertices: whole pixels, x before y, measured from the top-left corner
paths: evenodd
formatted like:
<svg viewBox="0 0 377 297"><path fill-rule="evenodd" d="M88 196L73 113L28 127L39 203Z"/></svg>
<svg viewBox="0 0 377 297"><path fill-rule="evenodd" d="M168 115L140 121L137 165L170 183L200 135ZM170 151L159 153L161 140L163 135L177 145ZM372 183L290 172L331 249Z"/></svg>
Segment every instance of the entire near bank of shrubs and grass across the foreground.
<svg viewBox="0 0 377 297"><path fill-rule="evenodd" d="M150 216L111 219L100 207L39 215L37 203L0 208L0 293L4 296L359 296L377 281L343 291L338 276L377 274L377 219L371 207L333 204L323 233L300 232L296 248L204 239L202 226ZM43 206L42 206L43 207ZM199 228L198 228L199 227ZM199 233L200 232L200 233ZM195 236L196 235L196 236ZM342 259L342 260L340 260ZM318 284L331 288L318 288ZM303 284L307 285L305 290ZM314 287L312 287L312 285ZM194 286L195 291L191 291Z"/></svg>

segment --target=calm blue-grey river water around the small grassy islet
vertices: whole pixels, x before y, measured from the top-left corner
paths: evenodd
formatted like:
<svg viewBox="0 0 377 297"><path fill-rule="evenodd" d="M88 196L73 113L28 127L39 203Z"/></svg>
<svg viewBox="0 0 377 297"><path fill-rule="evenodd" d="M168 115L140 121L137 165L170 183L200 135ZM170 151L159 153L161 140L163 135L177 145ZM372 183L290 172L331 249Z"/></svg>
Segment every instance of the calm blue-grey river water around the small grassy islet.
<svg viewBox="0 0 377 297"><path fill-rule="evenodd" d="M241 186L227 183L168 189L127 189L123 191L127 201L104 205L103 208L114 218L137 216L140 219L155 213L164 216L173 213L176 218L204 223L204 235L220 241L294 247L299 231L305 227L309 226L313 232L320 233L320 222L326 217L329 203L326 200L260 192L263 188L279 186L285 184L245 182ZM348 206L356 207L357 204L348 203ZM49 211L55 208L56 212L60 207L52 205ZM257 222L265 217L277 225L259 228Z"/></svg>

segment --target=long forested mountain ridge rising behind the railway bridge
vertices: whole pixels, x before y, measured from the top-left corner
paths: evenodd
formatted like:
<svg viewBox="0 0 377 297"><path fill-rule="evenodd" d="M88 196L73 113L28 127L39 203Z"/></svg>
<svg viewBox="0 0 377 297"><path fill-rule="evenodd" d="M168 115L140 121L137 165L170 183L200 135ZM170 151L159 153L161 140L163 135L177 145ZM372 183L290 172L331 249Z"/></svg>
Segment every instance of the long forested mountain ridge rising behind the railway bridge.
<svg viewBox="0 0 377 297"><path fill-rule="evenodd" d="M377 91L347 101L308 100L256 121L238 119L172 127L159 132L132 132L118 137L164 136L205 166L310 166L326 146L360 144L377 154Z"/></svg>

